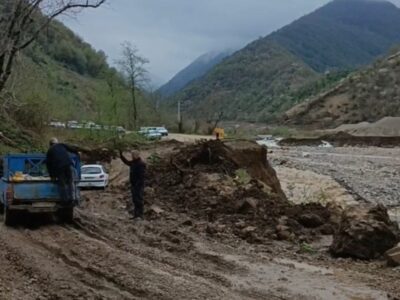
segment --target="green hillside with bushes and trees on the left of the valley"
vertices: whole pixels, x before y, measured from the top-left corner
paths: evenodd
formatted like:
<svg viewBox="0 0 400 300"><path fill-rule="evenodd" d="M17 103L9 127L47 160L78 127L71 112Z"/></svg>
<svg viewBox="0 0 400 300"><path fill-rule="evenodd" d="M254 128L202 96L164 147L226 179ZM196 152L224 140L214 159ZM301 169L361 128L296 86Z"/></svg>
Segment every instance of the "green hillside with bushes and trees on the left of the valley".
<svg viewBox="0 0 400 300"><path fill-rule="evenodd" d="M126 126L130 117L130 94L122 76L102 51L57 21L19 56L7 88L18 102L12 110L15 119L28 127L51 119ZM141 92L138 106L139 119L158 117Z"/></svg>

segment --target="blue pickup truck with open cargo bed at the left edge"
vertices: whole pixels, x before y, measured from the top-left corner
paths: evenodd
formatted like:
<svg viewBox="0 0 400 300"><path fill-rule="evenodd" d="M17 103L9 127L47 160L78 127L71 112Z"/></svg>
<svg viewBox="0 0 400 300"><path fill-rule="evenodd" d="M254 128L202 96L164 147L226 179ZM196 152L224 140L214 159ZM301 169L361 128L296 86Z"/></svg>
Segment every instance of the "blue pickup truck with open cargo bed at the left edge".
<svg viewBox="0 0 400 300"><path fill-rule="evenodd" d="M71 155L74 167L74 198L65 203L57 182L51 180L44 154L12 154L0 157L0 210L4 223L14 225L21 212L56 213L63 222L72 222L79 201L80 159Z"/></svg>

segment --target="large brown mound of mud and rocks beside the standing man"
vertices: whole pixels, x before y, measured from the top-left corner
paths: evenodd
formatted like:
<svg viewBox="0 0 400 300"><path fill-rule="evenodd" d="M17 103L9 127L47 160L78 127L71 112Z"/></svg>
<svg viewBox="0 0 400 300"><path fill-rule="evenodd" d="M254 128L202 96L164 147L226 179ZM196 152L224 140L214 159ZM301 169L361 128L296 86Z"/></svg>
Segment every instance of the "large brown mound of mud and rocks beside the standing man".
<svg viewBox="0 0 400 300"><path fill-rule="evenodd" d="M283 193L266 149L249 141L209 141L177 149L148 170L148 207L182 213L182 225L249 242L311 240L332 233L331 213L296 206ZM149 212L152 217L153 212Z"/></svg>

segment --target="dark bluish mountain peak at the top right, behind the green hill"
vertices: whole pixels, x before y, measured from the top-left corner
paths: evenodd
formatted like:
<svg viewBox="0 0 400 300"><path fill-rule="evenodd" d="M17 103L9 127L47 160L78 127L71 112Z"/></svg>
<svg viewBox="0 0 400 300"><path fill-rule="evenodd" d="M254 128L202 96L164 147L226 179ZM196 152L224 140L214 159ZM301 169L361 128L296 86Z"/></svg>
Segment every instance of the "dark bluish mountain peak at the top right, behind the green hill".
<svg viewBox="0 0 400 300"><path fill-rule="evenodd" d="M400 43L400 9L386 1L335 0L274 32L313 69L358 67Z"/></svg>

